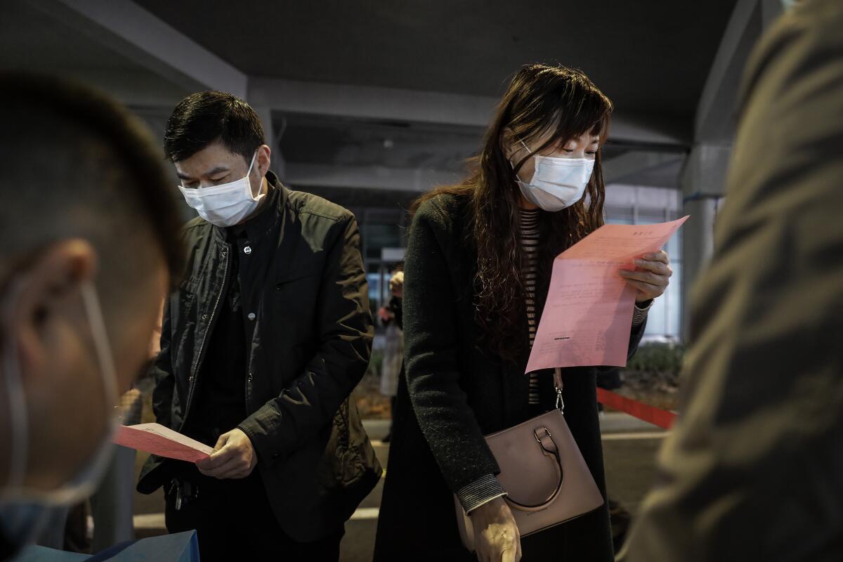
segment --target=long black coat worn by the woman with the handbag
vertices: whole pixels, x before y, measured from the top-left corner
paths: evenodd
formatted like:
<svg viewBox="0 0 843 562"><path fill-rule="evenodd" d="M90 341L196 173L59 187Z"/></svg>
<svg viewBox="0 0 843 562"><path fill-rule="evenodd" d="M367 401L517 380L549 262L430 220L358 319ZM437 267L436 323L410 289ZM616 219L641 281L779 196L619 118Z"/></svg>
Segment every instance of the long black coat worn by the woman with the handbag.
<svg viewBox="0 0 843 562"><path fill-rule="evenodd" d="M530 418L529 351L502 361L478 344L474 277L477 254L464 232L465 203L440 196L414 217L405 259L405 379L399 383L394 433L381 505L375 560L475 559L460 544L454 491L499 472L484 435ZM550 286L547 249L536 287L539 313ZM559 249L561 250L561 249ZM526 311L521 333L529 342ZM644 331L637 327L634 352ZM605 494L596 367L562 370L568 426ZM552 408L552 374L540 374ZM524 539L525 560L553 552L566 560L613 559L609 512Z"/></svg>

